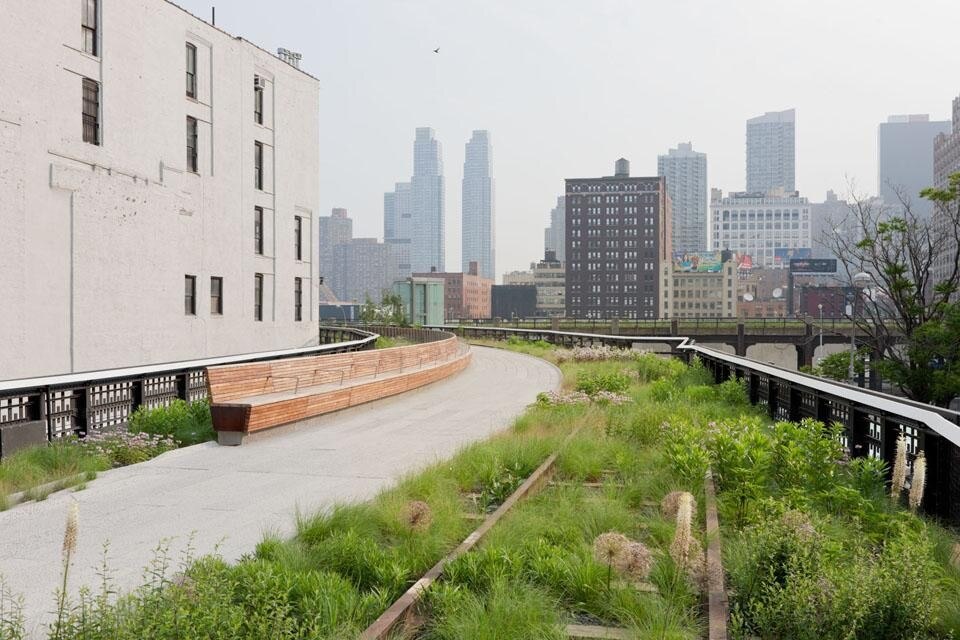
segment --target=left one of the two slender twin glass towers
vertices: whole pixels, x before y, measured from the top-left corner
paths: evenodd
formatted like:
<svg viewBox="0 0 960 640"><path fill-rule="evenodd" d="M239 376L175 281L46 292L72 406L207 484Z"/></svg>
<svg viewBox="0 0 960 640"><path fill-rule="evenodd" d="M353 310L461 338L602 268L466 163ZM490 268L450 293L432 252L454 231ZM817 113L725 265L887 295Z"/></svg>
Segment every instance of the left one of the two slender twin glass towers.
<svg viewBox="0 0 960 640"><path fill-rule="evenodd" d="M433 129L417 129L410 180L410 270L444 269L443 150Z"/></svg>

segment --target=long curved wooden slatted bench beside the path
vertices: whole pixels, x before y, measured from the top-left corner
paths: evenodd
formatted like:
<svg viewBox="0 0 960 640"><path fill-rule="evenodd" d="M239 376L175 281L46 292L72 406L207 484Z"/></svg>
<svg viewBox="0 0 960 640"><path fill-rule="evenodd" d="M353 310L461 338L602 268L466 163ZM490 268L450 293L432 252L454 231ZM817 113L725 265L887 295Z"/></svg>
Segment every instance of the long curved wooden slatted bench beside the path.
<svg viewBox="0 0 960 640"><path fill-rule="evenodd" d="M308 356L207 369L220 444L257 431L403 393L467 366L456 337L391 349Z"/></svg>

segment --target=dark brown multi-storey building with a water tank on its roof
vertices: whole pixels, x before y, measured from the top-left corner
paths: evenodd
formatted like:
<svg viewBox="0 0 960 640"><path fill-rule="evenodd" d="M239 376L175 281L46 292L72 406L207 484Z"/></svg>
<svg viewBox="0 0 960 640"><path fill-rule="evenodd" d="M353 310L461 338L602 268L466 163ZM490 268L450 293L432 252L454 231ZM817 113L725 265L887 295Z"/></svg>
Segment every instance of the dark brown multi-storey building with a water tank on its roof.
<svg viewBox="0 0 960 640"><path fill-rule="evenodd" d="M656 318L660 265L671 255L665 178L614 175L566 181L566 308L571 318Z"/></svg>

